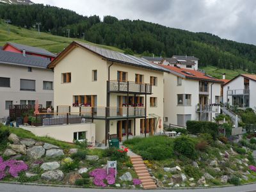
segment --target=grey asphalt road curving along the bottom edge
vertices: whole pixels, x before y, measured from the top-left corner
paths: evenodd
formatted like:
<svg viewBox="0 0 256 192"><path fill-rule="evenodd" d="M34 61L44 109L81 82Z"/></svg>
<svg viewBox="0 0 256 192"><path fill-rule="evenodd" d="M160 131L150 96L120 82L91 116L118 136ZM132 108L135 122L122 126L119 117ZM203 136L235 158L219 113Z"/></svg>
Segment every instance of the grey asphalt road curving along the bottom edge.
<svg viewBox="0 0 256 192"><path fill-rule="evenodd" d="M170 192L172 189L156 189L156 190L129 190L129 192ZM48 186L29 186L20 184L4 184L0 183L0 192L126 192L127 189L81 189L81 188L60 188ZM244 186L232 186L227 188L209 188L209 189L173 189L173 192L241 192L256 191L256 184L248 184Z"/></svg>

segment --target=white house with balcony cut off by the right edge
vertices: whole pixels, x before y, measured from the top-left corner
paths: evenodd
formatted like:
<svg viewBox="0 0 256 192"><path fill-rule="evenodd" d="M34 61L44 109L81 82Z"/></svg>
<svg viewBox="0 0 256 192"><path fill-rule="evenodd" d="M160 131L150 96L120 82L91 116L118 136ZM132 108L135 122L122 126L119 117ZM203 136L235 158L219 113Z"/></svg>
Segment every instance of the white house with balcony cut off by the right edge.
<svg viewBox="0 0 256 192"><path fill-rule="evenodd" d="M223 85L223 103L255 110L255 91L256 75L240 74Z"/></svg>

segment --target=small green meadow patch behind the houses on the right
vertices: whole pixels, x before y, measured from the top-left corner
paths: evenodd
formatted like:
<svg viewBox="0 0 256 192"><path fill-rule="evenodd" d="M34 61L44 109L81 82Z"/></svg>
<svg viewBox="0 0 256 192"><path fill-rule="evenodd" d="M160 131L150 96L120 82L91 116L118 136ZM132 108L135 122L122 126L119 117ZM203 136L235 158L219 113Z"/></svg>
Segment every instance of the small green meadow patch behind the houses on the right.
<svg viewBox="0 0 256 192"><path fill-rule="evenodd" d="M200 66L200 63L199 63ZM200 69L205 70L206 74L216 77L218 79L222 79L222 74L226 74L226 79L232 79L239 74L248 74L248 72L245 72L244 70L241 69L236 69L236 70L229 70L225 68L217 68L214 66L207 66L207 67L200 67Z"/></svg>

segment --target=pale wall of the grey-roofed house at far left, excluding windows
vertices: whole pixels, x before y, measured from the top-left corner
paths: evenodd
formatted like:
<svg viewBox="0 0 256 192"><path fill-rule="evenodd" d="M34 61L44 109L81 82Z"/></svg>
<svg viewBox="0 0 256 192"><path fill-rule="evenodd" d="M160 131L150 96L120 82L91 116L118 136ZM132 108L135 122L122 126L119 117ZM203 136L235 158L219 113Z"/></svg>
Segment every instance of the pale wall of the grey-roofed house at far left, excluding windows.
<svg viewBox="0 0 256 192"><path fill-rule="evenodd" d="M46 101L52 101L53 105L53 90L43 90L43 81L53 81L51 70L32 67L32 72L28 72L28 67L0 64L0 77L10 78L10 88L0 87L0 118L9 115L9 110L5 109L6 100L12 100L13 104L20 104L20 100L38 99L43 107ZM35 80L36 91L20 90L20 79Z"/></svg>

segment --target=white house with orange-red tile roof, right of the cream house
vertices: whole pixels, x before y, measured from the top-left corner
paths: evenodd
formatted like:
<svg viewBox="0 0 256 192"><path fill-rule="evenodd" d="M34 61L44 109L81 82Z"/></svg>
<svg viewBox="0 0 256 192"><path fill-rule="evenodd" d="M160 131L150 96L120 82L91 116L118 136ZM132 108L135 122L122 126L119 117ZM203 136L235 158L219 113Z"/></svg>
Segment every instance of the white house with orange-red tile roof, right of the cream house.
<svg viewBox="0 0 256 192"><path fill-rule="evenodd" d="M211 121L220 113L220 79L186 68L164 66L164 124L186 126L188 120Z"/></svg>

